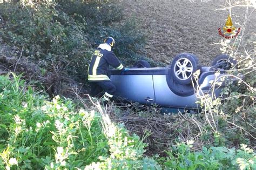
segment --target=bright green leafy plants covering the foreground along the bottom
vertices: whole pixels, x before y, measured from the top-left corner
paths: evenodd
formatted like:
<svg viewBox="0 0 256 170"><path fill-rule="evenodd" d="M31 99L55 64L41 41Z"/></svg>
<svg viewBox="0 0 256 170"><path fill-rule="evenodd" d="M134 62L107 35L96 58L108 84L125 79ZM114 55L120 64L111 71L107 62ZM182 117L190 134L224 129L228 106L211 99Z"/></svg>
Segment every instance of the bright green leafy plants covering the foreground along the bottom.
<svg viewBox="0 0 256 170"><path fill-rule="evenodd" d="M246 145L193 152L190 141L174 145L167 157L146 157L144 138L113 123L99 103L86 109L58 96L49 101L20 78L0 76L1 168L255 169L256 155Z"/></svg>

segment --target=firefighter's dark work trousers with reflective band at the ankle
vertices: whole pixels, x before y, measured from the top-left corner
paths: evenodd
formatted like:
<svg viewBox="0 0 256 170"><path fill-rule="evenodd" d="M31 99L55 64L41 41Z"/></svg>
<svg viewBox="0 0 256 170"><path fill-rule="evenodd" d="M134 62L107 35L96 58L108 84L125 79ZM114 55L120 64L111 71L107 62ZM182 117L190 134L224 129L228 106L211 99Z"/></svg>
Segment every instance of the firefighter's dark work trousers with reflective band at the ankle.
<svg viewBox="0 0 256 170"><path fill-rule="evenodd" d="M109 101L116 92L116 86L111 81L98 81L90 82L91 84L91 97L104 97L105 100ZM104 93L104 94L103 94Z"/></svg>

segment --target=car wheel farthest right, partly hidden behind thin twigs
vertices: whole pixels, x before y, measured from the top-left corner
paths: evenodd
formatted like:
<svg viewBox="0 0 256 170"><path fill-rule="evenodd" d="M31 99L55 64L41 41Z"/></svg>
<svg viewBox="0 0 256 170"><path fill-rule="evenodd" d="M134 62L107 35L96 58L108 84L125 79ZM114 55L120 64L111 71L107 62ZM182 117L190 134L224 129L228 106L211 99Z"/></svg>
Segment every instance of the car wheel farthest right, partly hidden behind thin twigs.
<svg viewBox="0 0 256 170"><path fill-rule="evenodd" d="M237 61L228 55L219 55L212 61L212 66L224 70L230 70L232 66L236 64Z"/></svg>

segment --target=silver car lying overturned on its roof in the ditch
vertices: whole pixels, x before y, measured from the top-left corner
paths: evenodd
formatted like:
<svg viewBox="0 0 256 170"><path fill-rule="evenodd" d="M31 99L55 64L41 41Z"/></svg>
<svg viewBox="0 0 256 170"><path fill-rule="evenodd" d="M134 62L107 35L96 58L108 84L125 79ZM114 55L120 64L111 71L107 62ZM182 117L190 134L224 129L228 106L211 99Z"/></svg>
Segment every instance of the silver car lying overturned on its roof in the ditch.
<svg viewBox="0 0 256 170"><path fill-rule="evenodd" d="M227 55L215 58L211 66L201 66L198 58L192 53L181 53L174 57L170 66L150 67L145 60L139 60L129 71L120 74L110 70L110 79L116 85L116 96L141 104L158 104L163 107L198 108L194 90L197 86L200 93L211 91L212 81L225 76L226 70L236 64ZM200 70L197 83L194 73ZM215 74L216 72L218 74ZM222 83L214 89L216 97L225 86Z"/></svg>

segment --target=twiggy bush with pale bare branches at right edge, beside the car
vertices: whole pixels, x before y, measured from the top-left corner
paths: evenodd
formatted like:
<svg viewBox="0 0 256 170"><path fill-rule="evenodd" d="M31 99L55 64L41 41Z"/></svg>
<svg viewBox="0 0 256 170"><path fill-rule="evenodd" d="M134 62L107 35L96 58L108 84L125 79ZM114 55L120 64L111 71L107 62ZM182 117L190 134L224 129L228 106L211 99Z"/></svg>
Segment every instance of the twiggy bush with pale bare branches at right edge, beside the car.
<svg viewBox="0 0 256 170"><path fill-rule="evenodd" d="M204 142L212 141L214 146L255 146L255 56L251 56L251 52L234 55L234 44L226 44L226 48L238 63L227 71L226 76L212 82L208 94L197 95L203 111L201 118L195 121L203 129L201 137ZM216 98L212 91L222 83L225 86L220 93L221 98Z"/></svg>

